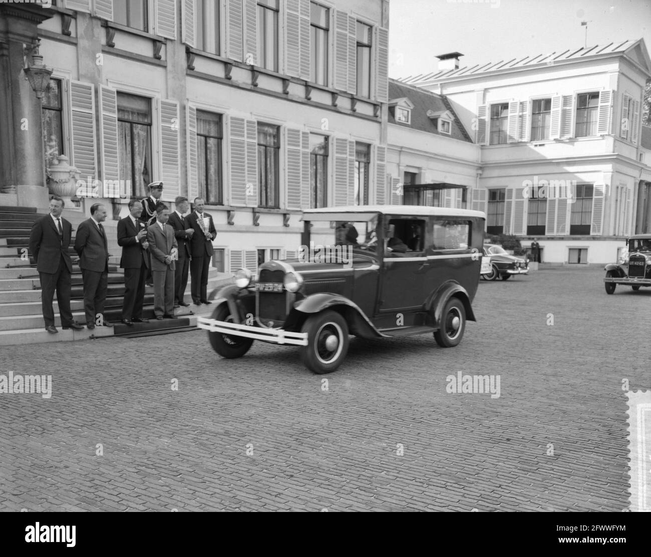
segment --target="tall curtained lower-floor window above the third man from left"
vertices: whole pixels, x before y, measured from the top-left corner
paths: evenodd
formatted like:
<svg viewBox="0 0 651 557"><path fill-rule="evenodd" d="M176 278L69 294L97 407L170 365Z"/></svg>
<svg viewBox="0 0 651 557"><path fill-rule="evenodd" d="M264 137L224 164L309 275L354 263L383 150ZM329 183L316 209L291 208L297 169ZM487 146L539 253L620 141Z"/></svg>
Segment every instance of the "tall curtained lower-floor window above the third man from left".
<svg viewBox="0 0 651 557"><path fill-rule="evenodd" d="M146 97L117 94L120 180L131 181L131 193L148 195L152 182L152 107Z"/></svg>

